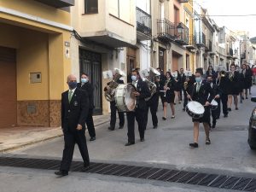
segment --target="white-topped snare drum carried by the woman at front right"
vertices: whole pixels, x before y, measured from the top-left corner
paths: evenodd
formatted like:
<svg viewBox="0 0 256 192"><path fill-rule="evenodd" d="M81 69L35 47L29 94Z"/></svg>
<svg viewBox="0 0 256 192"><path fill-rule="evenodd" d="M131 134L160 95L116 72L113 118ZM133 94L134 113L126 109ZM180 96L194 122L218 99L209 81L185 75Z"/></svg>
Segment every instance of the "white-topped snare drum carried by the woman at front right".
<svg viewBox="0 0 256 192"><path fill-rule="evenodd" d="M201 105L200 102L189 102L186 106L186 112L190 117L194 119L200 119L205 113L205 108Z"/></svg>

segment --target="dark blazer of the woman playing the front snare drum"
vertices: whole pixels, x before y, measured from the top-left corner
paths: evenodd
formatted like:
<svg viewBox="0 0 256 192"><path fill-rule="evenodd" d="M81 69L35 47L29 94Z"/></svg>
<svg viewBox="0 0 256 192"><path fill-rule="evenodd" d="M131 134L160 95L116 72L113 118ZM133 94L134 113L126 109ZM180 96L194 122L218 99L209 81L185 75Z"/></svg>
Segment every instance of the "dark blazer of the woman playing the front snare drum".
<svg viewBox="0 0 256 192"><path fill-rule="evenodd" d="M195 83L193 86L192 93L189 93L189 95L191 96L193 101L200 102L201 105L205 105L206 102L212 102L212 99L214 98L212 87L206 81L202 81L200 90L198 92L196 92Z"/></svg>

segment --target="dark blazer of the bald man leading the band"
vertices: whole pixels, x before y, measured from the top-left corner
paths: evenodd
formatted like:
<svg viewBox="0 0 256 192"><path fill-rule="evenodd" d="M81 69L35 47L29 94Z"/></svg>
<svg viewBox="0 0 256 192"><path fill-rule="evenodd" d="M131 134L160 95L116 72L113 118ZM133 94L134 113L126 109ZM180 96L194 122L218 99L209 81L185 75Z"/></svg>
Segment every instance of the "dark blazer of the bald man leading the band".
<svg viewBox="0 0 256 192"><path fill-rule="evenodd" d="M61 128L65 131L76 131L79 125L85 129L85 120L88 114L89 98L87 92L77 88L70 102L68 90L61 94Z"/></svg>

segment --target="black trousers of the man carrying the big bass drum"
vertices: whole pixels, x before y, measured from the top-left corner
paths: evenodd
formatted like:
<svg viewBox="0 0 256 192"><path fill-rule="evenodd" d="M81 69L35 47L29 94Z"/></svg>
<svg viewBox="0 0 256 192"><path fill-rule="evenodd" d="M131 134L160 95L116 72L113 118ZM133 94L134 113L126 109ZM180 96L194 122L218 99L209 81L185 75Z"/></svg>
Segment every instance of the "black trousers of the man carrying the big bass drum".
<svg viewBox="0 0 256 192"><path fill-rule="evenodd" d="M140 134L140 138L144 138L144 131L145 131L145 113L146 110L142 109L136 109L135 112L127 112L127 126L128 126L128 142L135 143L135 133L134 133L134 127L135 127L135 119L137 120L137 126L138 131Z"/></svg>

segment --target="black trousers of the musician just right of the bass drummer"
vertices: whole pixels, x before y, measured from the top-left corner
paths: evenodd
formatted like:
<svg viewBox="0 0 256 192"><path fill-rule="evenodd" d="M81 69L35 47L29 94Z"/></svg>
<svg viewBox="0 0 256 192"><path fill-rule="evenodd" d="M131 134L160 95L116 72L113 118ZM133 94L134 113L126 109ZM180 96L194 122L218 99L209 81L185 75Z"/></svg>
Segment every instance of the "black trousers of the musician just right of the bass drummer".
<svg viewBox="0 0 256 192"><path fill-rule="evenodd" d="M152 123L153 126L157 126L158 125L158 119L157 119L157 108L158 108L158 103L159 103L159 95L155 94L154 96L151 97L151 99L147 102L147 109L145 112L145 129L147 128L148 125L148 109L150 108L150 113L152 116Z"/></svg>

